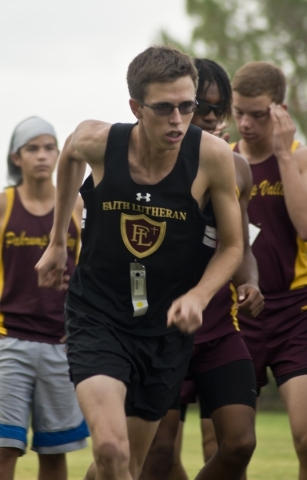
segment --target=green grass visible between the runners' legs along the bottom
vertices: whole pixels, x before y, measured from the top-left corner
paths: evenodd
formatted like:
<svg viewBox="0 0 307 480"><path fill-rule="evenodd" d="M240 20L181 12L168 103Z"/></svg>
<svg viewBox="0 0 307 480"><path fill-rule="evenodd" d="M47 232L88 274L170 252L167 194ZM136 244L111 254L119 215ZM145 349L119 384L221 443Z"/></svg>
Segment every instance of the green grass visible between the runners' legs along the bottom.
<svg viewBox="0 0 307 480"><path fill-rule="evenodd" d="M248 469L248 480L295 480L297 478L297 459L285 413L258 413L257 443L257 449ZM84 450L69 453L69 480L82 480L91 460L90 445ZM185 425L183 463L189 478L193 480L202 465L199 419L195 408L190 408ZM36 472L36 454L29 451L18 461L15 480L36 480Z"/></svg>

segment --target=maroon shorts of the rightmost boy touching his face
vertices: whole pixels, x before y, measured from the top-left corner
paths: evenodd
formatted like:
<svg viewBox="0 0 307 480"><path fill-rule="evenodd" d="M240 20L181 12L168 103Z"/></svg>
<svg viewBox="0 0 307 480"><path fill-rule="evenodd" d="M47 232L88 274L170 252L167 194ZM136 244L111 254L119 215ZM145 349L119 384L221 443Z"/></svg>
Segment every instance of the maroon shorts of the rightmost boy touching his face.
<svg viewBox="0 0 307 480"><path fill-rule="evenodd" d="M266 367L278 385L307 373L307 288L266 295L256 319L239 318L258 387L268 383Z"/></svg>

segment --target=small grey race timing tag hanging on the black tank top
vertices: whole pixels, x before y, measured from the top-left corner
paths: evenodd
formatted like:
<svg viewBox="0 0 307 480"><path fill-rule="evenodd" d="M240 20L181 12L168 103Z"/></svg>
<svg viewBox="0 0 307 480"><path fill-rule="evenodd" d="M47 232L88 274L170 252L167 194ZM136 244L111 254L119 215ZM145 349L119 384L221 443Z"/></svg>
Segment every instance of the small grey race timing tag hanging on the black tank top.
<svg viewBox="0 0 307 480"><path fill-rule="evenodd" d="M131 299L134 317L144 315L148 309L146 292L146 268L140 263L130 263Z"/></svg>

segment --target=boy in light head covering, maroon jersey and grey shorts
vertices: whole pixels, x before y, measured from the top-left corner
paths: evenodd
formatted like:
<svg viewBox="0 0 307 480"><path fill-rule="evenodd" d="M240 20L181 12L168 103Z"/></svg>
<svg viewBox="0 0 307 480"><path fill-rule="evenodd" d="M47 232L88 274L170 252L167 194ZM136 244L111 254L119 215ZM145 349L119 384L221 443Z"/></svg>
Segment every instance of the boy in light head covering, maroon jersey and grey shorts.
<svg viewBox="0 0 307 480"><path fill-rule="evenodd" d="M14 478L30 418L40 480L66 480L65 453L85 447L88 436L68 374L64 292L39 289L34 270L52 227L58 153L50 123L39 117L21 122L8 154L14 186L0 194L1 480ZM65 238L68 273L79 253L81 211L80 199Z"/></svg>

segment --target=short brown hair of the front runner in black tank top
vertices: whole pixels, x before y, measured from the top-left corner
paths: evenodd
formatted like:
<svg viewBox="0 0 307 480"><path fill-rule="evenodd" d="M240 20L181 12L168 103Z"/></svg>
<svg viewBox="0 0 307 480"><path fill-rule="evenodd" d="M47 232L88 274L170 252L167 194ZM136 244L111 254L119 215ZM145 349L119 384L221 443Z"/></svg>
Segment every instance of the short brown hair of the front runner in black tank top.
<svg viewBox="0 0 307 480"><path fill-rule="evenodd" d="M127 83L131 98L143 102L147 85L154 82L174 82L190 76L198 85L197 70L193 60L172 46L153 46L137 55L129 65Z"/></svg>

